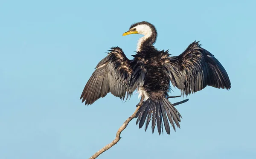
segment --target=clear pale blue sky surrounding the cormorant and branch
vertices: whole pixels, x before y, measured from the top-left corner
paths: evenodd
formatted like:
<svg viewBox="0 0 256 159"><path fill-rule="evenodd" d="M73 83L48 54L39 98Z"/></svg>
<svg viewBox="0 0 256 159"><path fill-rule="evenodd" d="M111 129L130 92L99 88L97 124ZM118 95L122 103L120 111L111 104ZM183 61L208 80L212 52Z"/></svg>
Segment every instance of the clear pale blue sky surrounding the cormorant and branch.
<svg viewBox="0 0 256 159"><path fill-rule="evenodd" d="M131 58L141 35L122 33L144 20L157 27L155 46L175 56L201 40L232 88L188 96L177 106L181 129L170 135L145 132L132 120L99 159L255 159L255 6L253 0L1 1L0 159L86 159L111 142L137 94L127 102L108 94L90 106L79 97L109 47Z"/></svg>

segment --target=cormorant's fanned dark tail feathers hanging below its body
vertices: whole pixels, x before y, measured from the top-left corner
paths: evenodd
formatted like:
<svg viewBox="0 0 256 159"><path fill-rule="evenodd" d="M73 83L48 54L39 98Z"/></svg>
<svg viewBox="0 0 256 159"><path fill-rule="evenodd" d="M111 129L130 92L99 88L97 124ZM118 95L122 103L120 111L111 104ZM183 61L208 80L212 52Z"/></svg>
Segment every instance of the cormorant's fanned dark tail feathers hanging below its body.
<svg viewBox="0 0 256 159"><path fill-rule="evenodd" d="M163 125L166 133L170 134L169 122L173 130L176 131L175 124L180 128L179 122L182 118L177 109L165 97L160 99L148 98L143 102L135 117L137 118L136 125L139 123L139 128L142 128L145 124L145 131L147 131L151 121L152 133L154 133L155 126L157 126L159 135L163 132Z"/></svg>

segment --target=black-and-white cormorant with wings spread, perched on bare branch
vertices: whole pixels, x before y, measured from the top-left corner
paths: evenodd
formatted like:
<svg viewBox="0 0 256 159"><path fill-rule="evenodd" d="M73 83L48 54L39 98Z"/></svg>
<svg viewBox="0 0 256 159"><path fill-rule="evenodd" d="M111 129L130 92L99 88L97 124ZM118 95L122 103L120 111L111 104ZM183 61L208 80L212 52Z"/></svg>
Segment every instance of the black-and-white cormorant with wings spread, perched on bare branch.
<svg viewBox="0 0 256 159"><path fill-rule="evenodd" d="M107 56L95 68L82 91L80 100L91 105L109 92L124 100L133 92L139 92L140 106L136 113L139 128L145 125L147 131L151 122L152 133L157 126L159 135L163 127L170 134L170 127L180 128L181 114L168 100L168 94L174 88L188 96L205 87L212 86L229 90L230 78L223 65L213 54L201 47L200 41L194 41L178 56L169 54L169 50L154 47L157 40L156 27L142 21L134 23L123 36L129 34L144 35L138 40L137 50L129 60L122 48L110 47ZM171 125L171 126L170 126Z"/></svg>

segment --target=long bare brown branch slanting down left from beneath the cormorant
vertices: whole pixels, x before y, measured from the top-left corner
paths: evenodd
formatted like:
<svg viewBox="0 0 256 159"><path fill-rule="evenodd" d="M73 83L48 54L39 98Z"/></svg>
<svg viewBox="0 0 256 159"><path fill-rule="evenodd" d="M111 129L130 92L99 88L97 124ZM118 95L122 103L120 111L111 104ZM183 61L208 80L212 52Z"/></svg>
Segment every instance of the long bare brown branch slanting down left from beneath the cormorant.
<svg viewBox="0 0 256 159"><path fill-rule="evenodd" d="M114 139L111 143L109 143L108 145L106 145L104 148L100 149L98 152L94 153L93 156L90 157L90 159L96 159L96 157L98 157L100 154L102 154L103 152L105 152L106 150L110 149L113 145L116 145L117 142L119 142L120 140L120 135L121 132L127 127L127 125L129 124L129 122L135 118L135 115L137 113L137 111L139 110L140 106L137 107L137 109L134 111L134 114L132 114L130 117L128 117L128 119L123 123L123 125L118 129L117 133L116 133L116 139Z"/></svg>

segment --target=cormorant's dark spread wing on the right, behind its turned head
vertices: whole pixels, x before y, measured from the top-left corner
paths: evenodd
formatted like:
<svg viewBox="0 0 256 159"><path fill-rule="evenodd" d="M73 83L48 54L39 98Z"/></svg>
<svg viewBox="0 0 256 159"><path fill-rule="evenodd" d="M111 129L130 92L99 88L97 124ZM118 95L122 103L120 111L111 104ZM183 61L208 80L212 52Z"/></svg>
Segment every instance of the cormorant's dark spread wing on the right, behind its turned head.
<svg viewBox="0 0 256 159"><path fill-rule="evenodd" d="M201 48L198 42L191 43L177 57L162 56L162 63L172 85L184 95L201 91L207 85L230 89L228 74L221 63L209 51Z"/></svg>

